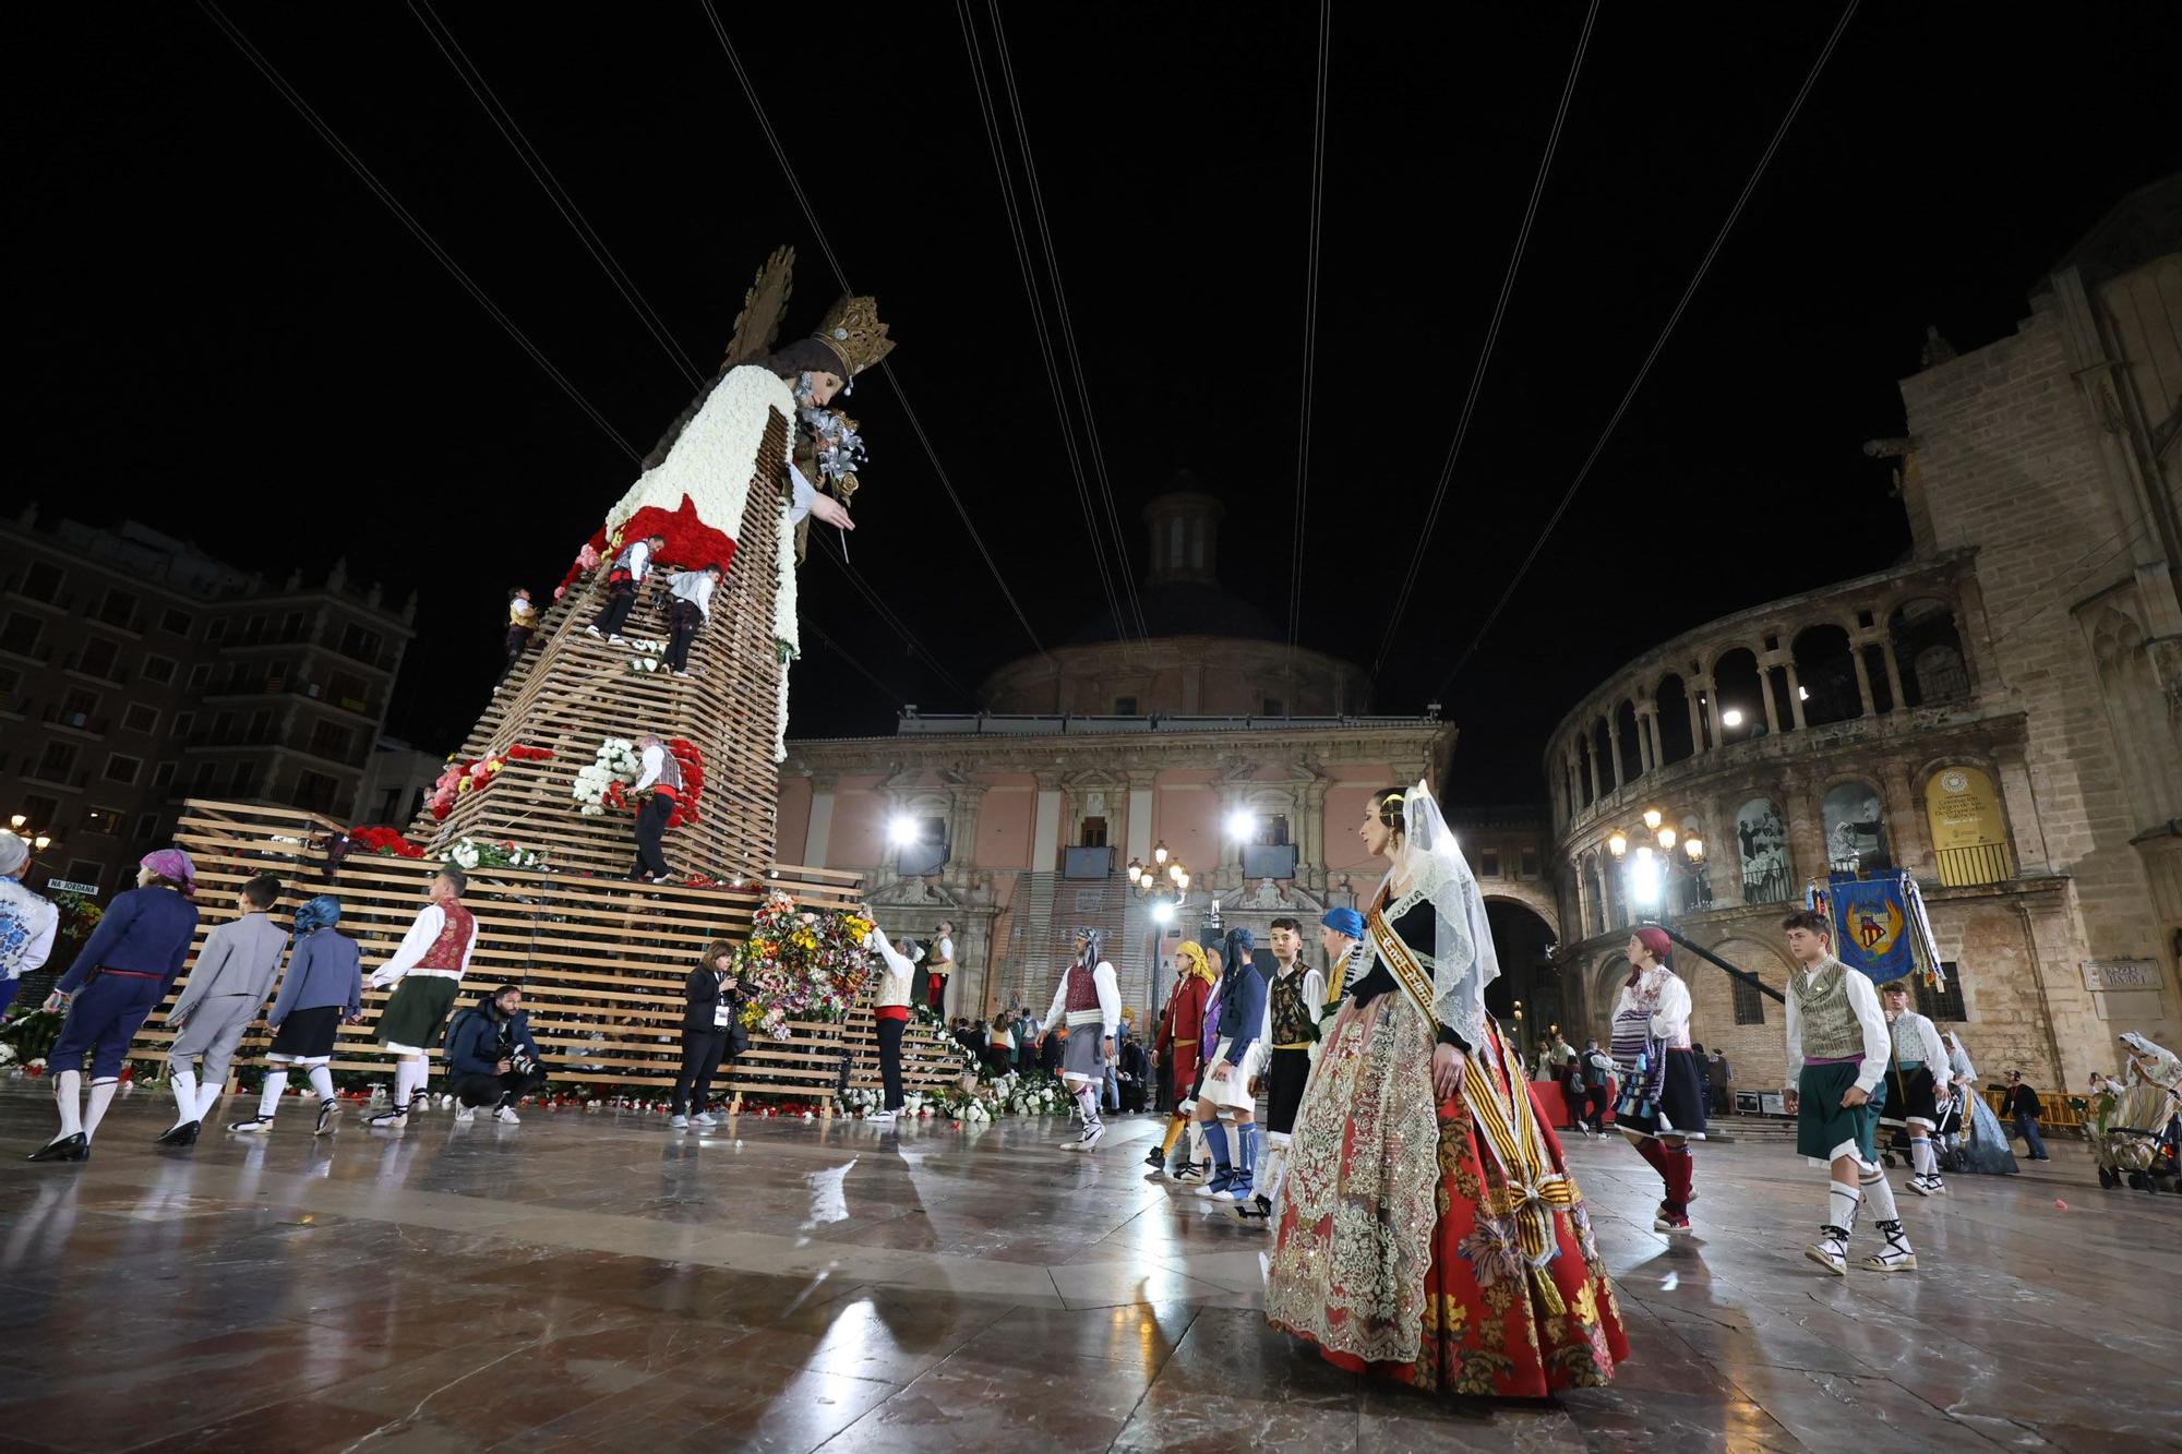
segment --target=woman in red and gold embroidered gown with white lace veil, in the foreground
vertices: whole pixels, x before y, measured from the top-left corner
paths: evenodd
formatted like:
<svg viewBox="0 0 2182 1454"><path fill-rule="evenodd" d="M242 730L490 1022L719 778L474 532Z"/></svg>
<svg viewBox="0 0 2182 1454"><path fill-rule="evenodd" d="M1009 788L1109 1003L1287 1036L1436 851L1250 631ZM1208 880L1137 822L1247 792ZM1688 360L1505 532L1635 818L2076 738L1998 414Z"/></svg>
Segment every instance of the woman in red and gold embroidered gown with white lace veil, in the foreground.
<svg viewBox="0 0 2182 1454"><path fill-rule="evenodd" d="M1628 1358L1560 1142L1484 1013L1484 902L1431 792L1372 797L1392 865L1368 974L1296 1116L1266 1316L1324 1358L1418 1389L1545 1397Z"/></svg>

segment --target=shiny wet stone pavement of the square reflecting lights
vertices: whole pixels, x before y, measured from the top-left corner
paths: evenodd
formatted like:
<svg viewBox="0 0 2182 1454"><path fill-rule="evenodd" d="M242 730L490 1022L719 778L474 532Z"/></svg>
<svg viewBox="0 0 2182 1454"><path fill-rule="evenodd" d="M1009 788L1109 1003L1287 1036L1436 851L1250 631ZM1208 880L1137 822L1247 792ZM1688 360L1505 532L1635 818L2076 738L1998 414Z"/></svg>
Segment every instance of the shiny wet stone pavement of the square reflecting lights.
<svg viewBox="0 0 2182 1454"><path fill-rule="evenodd" d="M2073 1146L1903 1194L1922 1271L1844 1282L1785 1146L1700 1151L1669 1242L1636 1155L1578 1140L1632 1358L1462 1404L1270 1332L1266 1236L1146 1179L1152 1118L1078 1157L1060 1120L314 1140L292 1103L168 1153L168 1109L31 1166L50 1103L0 1083L0 1450L2182 1447L2182 1196Z"/></svg>

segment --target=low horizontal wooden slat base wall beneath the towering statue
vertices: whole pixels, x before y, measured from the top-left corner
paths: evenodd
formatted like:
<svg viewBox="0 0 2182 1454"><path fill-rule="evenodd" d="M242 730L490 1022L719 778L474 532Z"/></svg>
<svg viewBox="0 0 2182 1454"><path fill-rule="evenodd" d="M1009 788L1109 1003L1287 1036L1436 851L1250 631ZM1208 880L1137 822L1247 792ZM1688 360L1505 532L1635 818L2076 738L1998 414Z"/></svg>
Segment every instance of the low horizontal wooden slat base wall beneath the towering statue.
<svg viewBox="0 0 2182 1454"><path fill-rule="evenodd" d="M196 860L199 943L216 923L236 917L236 891L244 880L275 873L288 886L277 917L329 893L340 899L340 930L362 945L367 974L384 963L423 906L439 865L430 858L336 858L345 827L295 808L190 801L175 841ZM862 897L858 875L825 869L783 867L762 882L810 908L851 908ZM707 943L748 934L759 893L759 884L679 889L585 873L476 869L463 899L478 915L465 1000L495 985L519 985L556 1083L670 1087L681 1065L683 980ZM340 1030L338 1070L391 1065L373 1039L386 998L364 991L364 1022ZM146 1022L135 1057L164 1059L172 1033L159 1020L155 1013ZM879 1083L868 1004L847 1024L810 1022L792 1030L786 1041L753 1039L748 1054L722 1068L716 1089L831 1105L844 1074L847 1085ZM247 1037L238 1063L251 1063L268 1041L266 1033ZM903 1078L912 1089L954 1085L964 1070L958 1046L930 1026L910 1026Z"/></svg>

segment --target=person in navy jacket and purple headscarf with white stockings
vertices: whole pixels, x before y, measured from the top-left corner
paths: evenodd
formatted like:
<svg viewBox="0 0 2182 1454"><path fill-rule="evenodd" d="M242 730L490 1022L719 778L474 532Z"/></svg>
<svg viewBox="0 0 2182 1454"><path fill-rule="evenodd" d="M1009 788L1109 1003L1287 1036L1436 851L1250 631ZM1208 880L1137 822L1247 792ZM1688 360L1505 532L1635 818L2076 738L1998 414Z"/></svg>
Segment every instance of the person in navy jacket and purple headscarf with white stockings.
<svg viewBox="0 0 2182 1454"><path fill-rule="evenodd" d="M68 1011L52 1041L52 1098L61 1133L33 1161L87 1161L98 1122L122 1083L122 1061L144 1017L166 1000L196 937L196 865L181 849L146 854L137 886L113 895L105 917L68 967L50 1011ZM83 1105L83 1057L92 1057L92 1098Z"/></svg>

